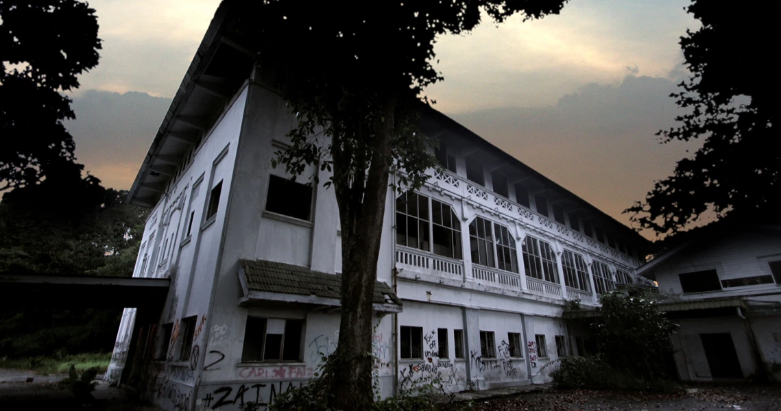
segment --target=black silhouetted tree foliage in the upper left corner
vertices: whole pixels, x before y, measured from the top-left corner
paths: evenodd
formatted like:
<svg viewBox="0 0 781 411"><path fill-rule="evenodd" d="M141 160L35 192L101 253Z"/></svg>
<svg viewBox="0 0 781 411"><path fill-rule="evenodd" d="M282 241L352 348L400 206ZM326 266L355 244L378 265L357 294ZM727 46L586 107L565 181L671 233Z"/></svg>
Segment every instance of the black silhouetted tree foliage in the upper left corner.
<svg viewBox="0 0 781 411"><path fill-rule="evenodd" d="M61 91L98 65L98 18L75 0L0 0L0 191L55 175L74 160Z"/></svg>

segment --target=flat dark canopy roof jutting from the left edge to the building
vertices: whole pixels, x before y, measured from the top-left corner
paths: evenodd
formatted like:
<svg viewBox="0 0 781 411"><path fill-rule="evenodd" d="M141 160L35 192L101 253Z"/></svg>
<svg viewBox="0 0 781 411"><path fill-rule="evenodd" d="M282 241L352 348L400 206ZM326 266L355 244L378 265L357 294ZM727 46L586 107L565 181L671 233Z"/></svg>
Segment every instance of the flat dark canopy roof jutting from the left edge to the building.
<svg viewBox="0 0 781 411"><path fill-rule="evenodd" d="M4 307L160 307L168 278L0 274Z"/></svg>

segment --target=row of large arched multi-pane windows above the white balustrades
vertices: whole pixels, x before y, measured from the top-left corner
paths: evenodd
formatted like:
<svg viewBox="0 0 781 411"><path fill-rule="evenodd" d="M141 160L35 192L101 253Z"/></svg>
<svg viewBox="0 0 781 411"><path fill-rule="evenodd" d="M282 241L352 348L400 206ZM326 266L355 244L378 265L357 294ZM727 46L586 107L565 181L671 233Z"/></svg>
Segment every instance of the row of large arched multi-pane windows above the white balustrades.
<svg viewBox="0 0 781 411"><path fill-rule="evenodd" d="M452 207L423 194L408 191L396 199L396 243L444 257L462 259L461 221ZM558 264L550 243L533 236L521 242L526 275L558 284ZM473 264L519 272L518 253L507 226L476 217L469 224L469 253ZM565 285L590 292L588 269L583 256L570 250L562 254ZM613 278L607 264L594 261L597 294L631 284L632 276L617 270Z"/></svg>

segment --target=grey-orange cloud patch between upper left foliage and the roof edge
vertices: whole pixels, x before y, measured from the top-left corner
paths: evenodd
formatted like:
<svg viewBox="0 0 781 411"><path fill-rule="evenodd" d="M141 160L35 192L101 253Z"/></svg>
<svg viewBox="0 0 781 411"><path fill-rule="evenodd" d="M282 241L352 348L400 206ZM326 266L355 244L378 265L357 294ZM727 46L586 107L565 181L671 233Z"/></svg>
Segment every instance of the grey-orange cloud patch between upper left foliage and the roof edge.
<svg viewBox="0 0 781 411"><path fill-rule="evenodd" d="M136 91L85 90L73 98L77 119L65 124L76 141L77 161L103 186L130 188L170 104L169 98Z"/></svg>

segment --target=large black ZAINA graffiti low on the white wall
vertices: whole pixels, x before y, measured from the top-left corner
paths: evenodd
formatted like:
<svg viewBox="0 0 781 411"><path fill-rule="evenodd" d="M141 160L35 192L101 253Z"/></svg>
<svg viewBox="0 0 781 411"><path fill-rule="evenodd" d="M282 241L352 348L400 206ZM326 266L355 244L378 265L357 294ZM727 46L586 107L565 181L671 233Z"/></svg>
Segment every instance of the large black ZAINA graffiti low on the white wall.
<svg viewBox="0 0 781 411"><path fill-rule="evenodd" d="M231 411L240 409L246 402L257 402L266 409L282 393L300 388L306 381L264 381L247 384L204 386L198 393L196 408Z"/></svg>

